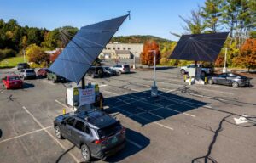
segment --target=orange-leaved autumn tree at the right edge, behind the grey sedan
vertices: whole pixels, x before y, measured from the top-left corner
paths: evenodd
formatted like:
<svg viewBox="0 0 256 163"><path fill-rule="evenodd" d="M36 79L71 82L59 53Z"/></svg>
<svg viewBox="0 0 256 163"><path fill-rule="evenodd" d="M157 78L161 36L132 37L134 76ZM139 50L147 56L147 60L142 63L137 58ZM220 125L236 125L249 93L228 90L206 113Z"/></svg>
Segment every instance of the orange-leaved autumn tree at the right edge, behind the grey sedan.
<svg viewBox="0 0 256 163"><path fill-rule="evenodd" d="M233 59L233 62L241 67L250 69L256 68L256 39L251 38L241 46L240 53Z"/></svg>

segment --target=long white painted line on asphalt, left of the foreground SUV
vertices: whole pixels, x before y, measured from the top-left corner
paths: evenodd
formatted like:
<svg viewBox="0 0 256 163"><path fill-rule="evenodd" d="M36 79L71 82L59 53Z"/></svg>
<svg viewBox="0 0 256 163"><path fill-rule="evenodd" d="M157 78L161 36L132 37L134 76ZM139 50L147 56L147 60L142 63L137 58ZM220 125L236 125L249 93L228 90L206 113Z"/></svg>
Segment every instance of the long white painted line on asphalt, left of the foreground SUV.
<svg viewBox="0 0 256 163"><path fill-rule="evenodd" d="M32 113L31 113L29 110L27 110L25 106L23 106L22 108L23 108L23 110L26 111L26 113L27 113L28 115L30 115L30 116L32 117L32 119L38 124L38 126L40 126L41 129L43 129L44 132L46 132L46 133L49 135L49 137L53 138L53 140L55 141L55 143L57 143L57 144L60 145L61 149L65 150L65 151L67 150L67 149L64 147L64 145L62 145L62 143L59 142L59 140L57 140L48 130L44 129L44 126L42 125L42 123L40 123L40 121L38 121L38 119L37 119L34 115L32 115ZM68 154L73 157L73 160L75 160L76 162L80 162L72 153L69 152Z"/></svg>

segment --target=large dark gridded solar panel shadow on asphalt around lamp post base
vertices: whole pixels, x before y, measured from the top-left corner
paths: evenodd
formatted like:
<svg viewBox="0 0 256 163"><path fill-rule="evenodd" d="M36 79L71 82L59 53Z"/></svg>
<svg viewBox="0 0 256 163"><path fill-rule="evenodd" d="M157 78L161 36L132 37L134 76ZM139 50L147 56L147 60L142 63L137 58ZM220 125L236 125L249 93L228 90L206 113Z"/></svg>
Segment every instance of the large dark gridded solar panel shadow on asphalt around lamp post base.
<svg viewBox="0 0 256 163"><path fill-rule="evenodd" d="M123 94L117 97L109 97L109 98L111 99L110 101L112 102L112 104L115 104L114 101L116 101L116 98L120 98L122 96L129 97L129 98L131 96L138 97L135 99L129 99L130 104L125 104L127 100L121 101L121 103L124 105L119 105L118 106L119 110L117 108L113 108L113 109L116 110L116 112L119 112L127 117L130 117L132 120L137 121L142 125L146 125L154 121L159 121L162 118L172 117L172 115L180 114L179 112L194 110L207 104L207 103L204 103L203 101L196 101L196 100L194 101L194 99L179 96L177 94L172 94L172 93L169 93L169 95L166 95L167 98L166 97L150 98L150 94L148 92L150 92L150 90L148 90L147 93L145 92L131 93L129 94L129 96L127 96L128 94ZM159 91L159 93L163 94L164 92ZM145 95L147 99L139 98ZM189 100L193 101L193 103L196 103L196 104L189 104L189 103L183 102L183 101L189 101ZM108 98L106 98L106 101L108 101ZM143 101L145 101L145 103L143 103ZM188 104L189 106L186 104ZM163 106L165 106L166 108L162 108ZM111 108L106 109L107 112L108 110L113 111ZM150 112L152 113L150 114ZM136 115L136 114L139 114L139 115Z"/></svg>

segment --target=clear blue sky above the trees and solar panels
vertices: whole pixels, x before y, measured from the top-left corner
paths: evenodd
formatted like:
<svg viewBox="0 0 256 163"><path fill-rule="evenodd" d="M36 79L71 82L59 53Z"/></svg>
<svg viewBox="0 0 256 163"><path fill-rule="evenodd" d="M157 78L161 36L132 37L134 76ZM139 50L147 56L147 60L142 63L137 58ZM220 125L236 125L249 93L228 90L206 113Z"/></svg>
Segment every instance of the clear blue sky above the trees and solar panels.
<svg viewBox="0 0 256 163"><path fill-rule="evenodd" d="M45 27L64 25L80 28L127 14L115 36L154 35L177 40L169 32L183 33L183 21L204 0L0 0L0 18L14 18L20 25Z"/></svg>

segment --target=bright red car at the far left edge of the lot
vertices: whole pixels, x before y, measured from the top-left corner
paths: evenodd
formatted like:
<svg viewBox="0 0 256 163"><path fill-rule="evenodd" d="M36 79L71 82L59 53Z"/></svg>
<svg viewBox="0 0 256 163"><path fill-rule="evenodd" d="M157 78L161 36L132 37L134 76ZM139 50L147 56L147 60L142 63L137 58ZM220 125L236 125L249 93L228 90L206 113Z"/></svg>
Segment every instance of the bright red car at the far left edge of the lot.
<svg viewBox="0 0 256 163"><path fill-rule="evenodd" d="M20 76L5 76L2 82L7 89L23 87L23 81L20 79Z"/></svg>

